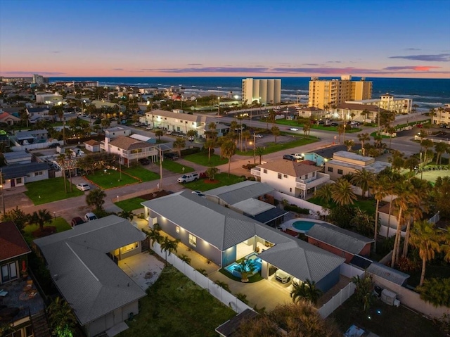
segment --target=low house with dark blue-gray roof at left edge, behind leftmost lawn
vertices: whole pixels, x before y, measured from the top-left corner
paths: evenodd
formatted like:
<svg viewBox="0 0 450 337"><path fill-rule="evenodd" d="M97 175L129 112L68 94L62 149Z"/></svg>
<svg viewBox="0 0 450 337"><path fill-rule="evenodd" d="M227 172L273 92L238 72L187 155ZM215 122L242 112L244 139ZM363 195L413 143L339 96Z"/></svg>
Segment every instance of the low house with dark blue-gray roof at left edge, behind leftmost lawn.
<svg viewBox="0 0 450 337"><path fill-rule="evenodd" d="M3 188L10 189L15 186L23 186L28 182L49 179L51 167L47 163L29 163L4 166L0 170L4 179Z"/></svg>

